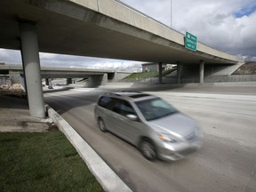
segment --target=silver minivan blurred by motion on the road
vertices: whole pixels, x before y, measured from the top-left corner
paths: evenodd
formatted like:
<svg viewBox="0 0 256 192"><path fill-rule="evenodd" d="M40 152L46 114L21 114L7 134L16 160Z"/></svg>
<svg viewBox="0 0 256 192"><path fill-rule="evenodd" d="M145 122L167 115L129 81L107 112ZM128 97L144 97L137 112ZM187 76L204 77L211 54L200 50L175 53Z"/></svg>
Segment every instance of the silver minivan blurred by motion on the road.
<svg viewBox="0 0 256 192"><path fill-rule="evenodd" d="M94 108L101 132L113 132L152 161L178 160L201 148L203 132L188 116L153 95L112 92Z"/></svg>

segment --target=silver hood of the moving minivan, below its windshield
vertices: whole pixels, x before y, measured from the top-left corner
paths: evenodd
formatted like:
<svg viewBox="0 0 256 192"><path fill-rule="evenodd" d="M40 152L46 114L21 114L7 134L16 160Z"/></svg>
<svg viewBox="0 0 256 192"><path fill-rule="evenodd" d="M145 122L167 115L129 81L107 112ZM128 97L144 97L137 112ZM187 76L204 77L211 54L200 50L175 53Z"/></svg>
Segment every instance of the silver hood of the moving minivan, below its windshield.
<svg viewBox="0 0 256 192"><path fill-rule="evenodd" d="M196 123L181 113L148 121L148 125L156 132L170 133L177 137L186 137L197 129Z"/></svg>

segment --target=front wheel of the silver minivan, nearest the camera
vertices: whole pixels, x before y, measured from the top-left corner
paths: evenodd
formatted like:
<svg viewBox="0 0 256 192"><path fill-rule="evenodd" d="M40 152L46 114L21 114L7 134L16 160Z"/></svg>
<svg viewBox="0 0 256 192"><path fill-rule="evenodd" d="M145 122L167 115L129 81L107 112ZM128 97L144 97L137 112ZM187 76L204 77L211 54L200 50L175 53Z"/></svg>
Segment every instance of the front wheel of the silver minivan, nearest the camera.
<svg viewBox="0 0 256 192"><path fill-rule="evenodd" d="M149 139L143 139L140 142L140 151L142 155L147 158L149 161L156 160L156 147L154 143Z"/></svg>

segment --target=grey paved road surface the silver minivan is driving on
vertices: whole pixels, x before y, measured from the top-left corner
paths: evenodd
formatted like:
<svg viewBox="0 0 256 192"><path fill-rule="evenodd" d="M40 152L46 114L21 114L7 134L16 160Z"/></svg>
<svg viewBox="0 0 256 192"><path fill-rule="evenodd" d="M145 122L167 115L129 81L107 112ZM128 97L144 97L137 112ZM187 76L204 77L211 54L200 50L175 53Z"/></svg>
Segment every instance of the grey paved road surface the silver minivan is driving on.
<svg viewBox="0 0 256 192"><path fill-rule="evenodd" d="M152 163L114 134L100 132L93 108L101 92L52 92L44 94L44 100L134 192L256 191L255 95L150 92L194 118L204 131L204 147L195 154Z"/></svg>

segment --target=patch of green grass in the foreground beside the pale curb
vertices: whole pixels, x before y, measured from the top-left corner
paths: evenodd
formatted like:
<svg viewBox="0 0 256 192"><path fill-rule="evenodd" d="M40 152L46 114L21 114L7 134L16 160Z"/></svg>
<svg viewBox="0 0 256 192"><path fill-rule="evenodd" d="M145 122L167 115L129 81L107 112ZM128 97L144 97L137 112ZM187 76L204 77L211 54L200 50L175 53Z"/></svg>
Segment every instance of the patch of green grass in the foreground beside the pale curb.
<svg viewBox="0 0 256 192"><path fill-rule="evenodd" d="M103 191L62 132L0 132L0 191Z"/></svg>

